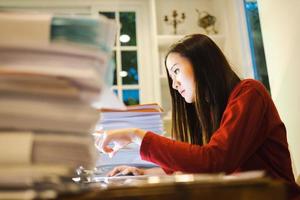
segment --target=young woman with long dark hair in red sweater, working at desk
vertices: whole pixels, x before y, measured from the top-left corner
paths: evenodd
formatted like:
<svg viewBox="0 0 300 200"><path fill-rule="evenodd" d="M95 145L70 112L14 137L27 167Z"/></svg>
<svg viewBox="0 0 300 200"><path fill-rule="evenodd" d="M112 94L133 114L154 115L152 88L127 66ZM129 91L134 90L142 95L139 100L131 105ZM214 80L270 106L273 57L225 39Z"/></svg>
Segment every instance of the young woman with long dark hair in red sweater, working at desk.
<svg viewBox="0 0 300 200"><path fill-rule="evenodd" d="M123 172L227 174L264 170L284 180L291 198L300 194L291 167L286 129L265 87L240 80L209 37L186 36L174 44L165 62L172 97L174 140L140 129L104 132L98 144L114 154L125 145L140 144L142 159L160 169L120 166ZM114 143L114 148L108 146Z"/></svg>

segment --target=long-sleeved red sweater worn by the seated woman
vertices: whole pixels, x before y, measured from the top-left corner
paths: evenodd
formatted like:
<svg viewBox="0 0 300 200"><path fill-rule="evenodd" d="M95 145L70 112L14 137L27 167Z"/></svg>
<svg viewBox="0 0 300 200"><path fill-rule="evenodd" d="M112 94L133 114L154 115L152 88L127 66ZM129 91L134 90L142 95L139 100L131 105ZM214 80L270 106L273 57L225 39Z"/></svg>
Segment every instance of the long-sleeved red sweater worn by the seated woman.
<svg viewBox="0 0 300 200"><path fill-rule="evenodd" d="M220 127L207 145L192 145L147 132L140 154L167 173L233 173L265 170L300 195L292 173L286 129L275 105L258 81L241 81L231 92Z"/></svg>

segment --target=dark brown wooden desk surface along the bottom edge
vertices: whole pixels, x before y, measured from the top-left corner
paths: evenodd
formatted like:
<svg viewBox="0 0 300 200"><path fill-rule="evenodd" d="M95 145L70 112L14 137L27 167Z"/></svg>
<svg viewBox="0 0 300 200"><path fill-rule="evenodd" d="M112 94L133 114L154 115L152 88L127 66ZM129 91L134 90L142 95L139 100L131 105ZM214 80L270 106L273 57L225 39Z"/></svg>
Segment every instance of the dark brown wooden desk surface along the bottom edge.
<svg viewBox="0 0 300 200"><path fill-rule="evenodd" d="M286 199L285 186L282 182L260 178L247 181L228 182L181 182L141 184L136 186L117 186L107 189L94 188L77 195L60 196L61 200L283 200Z"/></svg>

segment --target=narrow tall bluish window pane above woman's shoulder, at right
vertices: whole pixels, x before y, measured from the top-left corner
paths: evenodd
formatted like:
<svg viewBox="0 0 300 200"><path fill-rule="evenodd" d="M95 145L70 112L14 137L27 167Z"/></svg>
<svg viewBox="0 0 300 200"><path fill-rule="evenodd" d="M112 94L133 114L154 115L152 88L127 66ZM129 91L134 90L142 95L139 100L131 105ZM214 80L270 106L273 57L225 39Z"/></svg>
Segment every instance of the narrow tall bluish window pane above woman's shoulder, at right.
<svg viewBox="0 0 300 200"><path fill-rule="evenodd" d="M253 0L245 0L245 12L250 39L254 75L255 78L260 80L270 91L257 2Z"/></svg>

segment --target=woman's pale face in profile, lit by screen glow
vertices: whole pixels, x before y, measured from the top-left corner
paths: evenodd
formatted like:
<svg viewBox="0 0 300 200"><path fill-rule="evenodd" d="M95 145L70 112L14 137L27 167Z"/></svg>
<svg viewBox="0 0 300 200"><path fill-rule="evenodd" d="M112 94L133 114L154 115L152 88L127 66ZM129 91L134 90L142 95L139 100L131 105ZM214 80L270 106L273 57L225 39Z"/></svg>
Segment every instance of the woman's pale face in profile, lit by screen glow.
<svg viewBox="0 0 300 200"><path fill-rule="evenodd" d="M195 102L195 77L192 63L179 53L170 53L166 63L173 80L172 87L187 103Z"/></svg>

